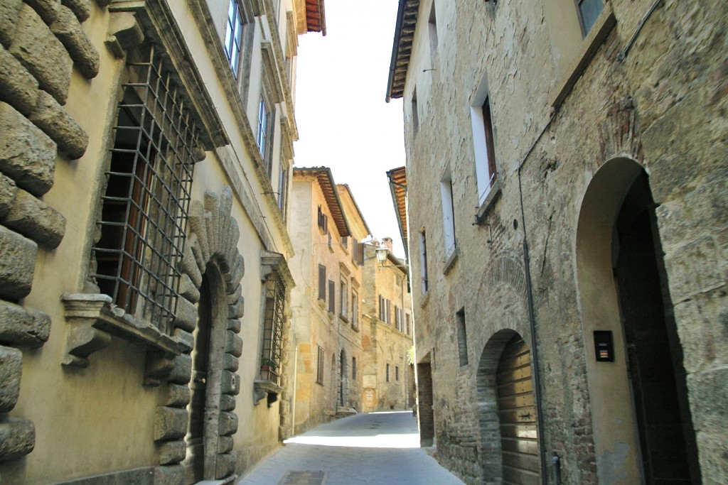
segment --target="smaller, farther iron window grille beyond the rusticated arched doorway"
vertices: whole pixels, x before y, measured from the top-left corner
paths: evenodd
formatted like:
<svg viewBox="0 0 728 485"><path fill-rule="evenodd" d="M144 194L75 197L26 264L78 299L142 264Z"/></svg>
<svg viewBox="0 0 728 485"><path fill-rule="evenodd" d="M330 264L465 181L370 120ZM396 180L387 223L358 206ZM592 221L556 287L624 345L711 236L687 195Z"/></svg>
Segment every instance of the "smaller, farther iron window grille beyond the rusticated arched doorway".
<svg viewBox="0 0 728 485"><path fill-rule="evenodd" d="M261 379L280 385L281 348L285 308L285 286L275 271L266 279Z"/></svg>

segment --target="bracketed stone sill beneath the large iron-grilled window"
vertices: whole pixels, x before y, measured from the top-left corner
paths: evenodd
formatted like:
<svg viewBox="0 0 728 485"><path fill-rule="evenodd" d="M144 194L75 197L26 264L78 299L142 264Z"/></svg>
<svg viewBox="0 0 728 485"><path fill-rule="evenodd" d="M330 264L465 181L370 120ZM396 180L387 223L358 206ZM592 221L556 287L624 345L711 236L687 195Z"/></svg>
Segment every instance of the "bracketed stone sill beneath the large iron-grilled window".
<svg viewBox="0 0 728 485"><path fill-rule="evenodd" d="M133 318L113 305L106 294L66 293L61 300L70 326L63 365L89 366L88 357L108 347L112 335L175 356L192 350L192 342L170 337L150 322Z"/></svg>

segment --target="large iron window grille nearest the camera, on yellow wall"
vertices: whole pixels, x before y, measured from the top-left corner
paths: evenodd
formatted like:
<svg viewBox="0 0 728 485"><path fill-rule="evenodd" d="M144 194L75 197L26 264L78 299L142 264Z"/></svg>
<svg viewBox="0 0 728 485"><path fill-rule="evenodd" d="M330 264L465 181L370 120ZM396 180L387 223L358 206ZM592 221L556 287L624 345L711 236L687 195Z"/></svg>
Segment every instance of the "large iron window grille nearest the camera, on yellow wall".
<svg viewBox="0 0 728 485"><path fill-rule="evenodd" d="M173 329L197 127L152 45L129 53L92 249L101 292L161 332Z"/></svg>

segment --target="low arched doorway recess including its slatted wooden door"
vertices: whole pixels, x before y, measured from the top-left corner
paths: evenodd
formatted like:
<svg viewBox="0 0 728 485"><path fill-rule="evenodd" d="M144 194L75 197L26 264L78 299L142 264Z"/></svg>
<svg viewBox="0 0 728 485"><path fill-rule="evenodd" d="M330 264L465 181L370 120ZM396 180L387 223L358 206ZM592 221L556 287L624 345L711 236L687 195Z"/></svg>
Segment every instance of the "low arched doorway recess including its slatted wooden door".
<svg viewBox="0 0 728 485"><path fill-rule="evenodd" d="M539 436L531 350L517 332L494 334L477 374L484 484L539 484Z"/></svg>

